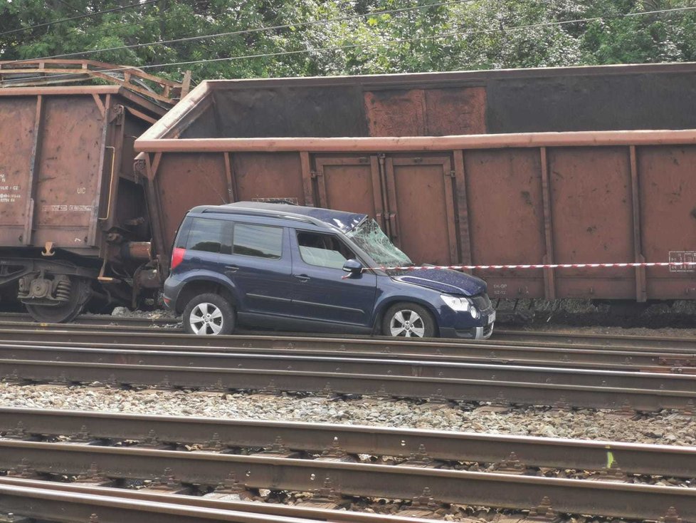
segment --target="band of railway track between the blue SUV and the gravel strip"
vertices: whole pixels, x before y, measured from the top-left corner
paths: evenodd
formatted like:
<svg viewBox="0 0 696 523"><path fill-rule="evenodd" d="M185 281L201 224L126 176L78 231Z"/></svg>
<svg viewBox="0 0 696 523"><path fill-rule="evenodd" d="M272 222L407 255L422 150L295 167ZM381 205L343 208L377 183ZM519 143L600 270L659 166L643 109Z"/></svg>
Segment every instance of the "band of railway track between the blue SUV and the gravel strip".
<svg viewBox="0 0 696 523"><path fill-rule="evenodd" d="M627 354L618 349L380 338L199 338L159 331L94 332L81 328L21 331L4 327L1 335L0 373L16 382L96 381L162 388L282 390L629 411L671 408L691 412L696 403L696 377L689 374L693 368L688 366L693 356L685 348L670 352L635 348ZM190 350L196 342L221 347ZM349 355L359 351L370 351L366 355L369 357ZM512 365L511 354L523 364ZM610 364L607 360L611 358Z"/></svg>

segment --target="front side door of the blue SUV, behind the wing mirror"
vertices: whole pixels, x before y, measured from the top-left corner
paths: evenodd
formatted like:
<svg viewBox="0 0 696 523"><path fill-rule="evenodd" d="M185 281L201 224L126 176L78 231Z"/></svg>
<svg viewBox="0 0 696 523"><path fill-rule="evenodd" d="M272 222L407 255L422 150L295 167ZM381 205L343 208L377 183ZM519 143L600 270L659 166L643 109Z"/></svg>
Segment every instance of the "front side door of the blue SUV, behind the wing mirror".
<svg viewBox="0 0 696 523"><path fill-rule="evenodd" d="M302 319L369 326L376 294L371 273L349 278L342 270L355 254L335 234L290 229L294 315Z"/></svg>

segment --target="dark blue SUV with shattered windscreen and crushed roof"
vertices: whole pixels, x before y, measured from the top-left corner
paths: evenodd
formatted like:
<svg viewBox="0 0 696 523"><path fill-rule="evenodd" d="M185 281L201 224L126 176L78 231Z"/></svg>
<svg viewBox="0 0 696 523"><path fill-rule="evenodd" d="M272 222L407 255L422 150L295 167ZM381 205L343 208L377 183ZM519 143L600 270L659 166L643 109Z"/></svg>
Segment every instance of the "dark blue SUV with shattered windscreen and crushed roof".
<svg viewBox="0 0 696 523"><path fill-rule="evenodd" d="M367 214L238 202L191 209L172 251L164 303L193 334L236 326L487 338L485 281L412 265Z"/></svg>

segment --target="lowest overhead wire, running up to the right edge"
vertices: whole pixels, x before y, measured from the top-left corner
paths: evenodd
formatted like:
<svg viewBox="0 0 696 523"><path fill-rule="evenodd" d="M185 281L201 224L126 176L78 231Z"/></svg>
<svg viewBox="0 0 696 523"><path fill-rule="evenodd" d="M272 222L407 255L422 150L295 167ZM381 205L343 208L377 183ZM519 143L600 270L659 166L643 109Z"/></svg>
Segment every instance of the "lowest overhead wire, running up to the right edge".
<svg viewBox="0 0 696 523"><path fill-rule="evenodd" d="M273 56L288 56L288 55L300 54L300 53L340 51L340 50L352 49L352 48L373 48L373 47L379 47L379 46L390 46L390 45L394 45L397 43L410 43L410 42L416 42L416 41L437 40L440 38L447 38L448 36L473 36L475 34L499 33L500 31L519 31L521 29L538 29L538 28L542 28L542 27L563 26L563 25L567 25L567 24L581 24L581 23L592 22L592 21L601 21L601 20L606 20L606 19L621 19L621 18L629 18L629 17L633 17L633 16L645 16L645 15L649 15L649 14L665 14L665 13L685 12L685 11L694 11L694 10L696 10L696 6L677 7L677 8L673 8L673 9L656 9L653 11L640 11L637 13L627 13L627 14L620 14L620 15L593 16L591 18L585 18L585 19L572 19L572 20L561 20L561 21L551 21L551 22L540 22L539 24L527 24L524 26L512 26L512 27L503 26L503 27L497 27L495 29L480 29L478 31L449 31L447 33L438 33L438 34L430 35L430 36L418 36L418 37L413 37L413 38L399 38L399 39L395 39L395 40L386 40L386 41L380 41L380 42L374 42L374 43L351 43L351 44L347 44L344 46L330 46L330 47L297 49L295 51L276 51L273 53L257 53L257 54L239 55L239 56L226 56L226 57L222 57L222 58L203 58L201 60L181 61L181 62L173 62L173 63L154 63L154 64L150 64L148 66L140 66L140 67L123 66L123 67L119 67L119 68L102 69L102 70L100 70L100 73L129 71L131 69L154 69L154 68L164 68L164 67L173 67L173 66L190 66L190 65L194 65L196 63L236 61L236 60L246 60L249 58L270 58ZM60 77L60 76L63 76L63 75L58 74L58 75L55 75L53 77ZM70 75L70 73L67 73L64 76L71 76L71 75ZM8 79L8 80L0 81L0 85L6 84L6 83L12 83L13 81L15 81L15 82L22 81L23 82L23 81L27 81L27 80L41 79L41 78L44 78L44 76L35 76L35 77L31 77L31 78Z"/></svg>

